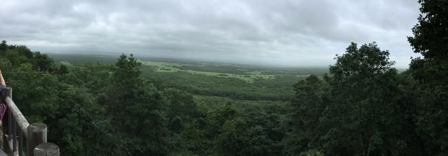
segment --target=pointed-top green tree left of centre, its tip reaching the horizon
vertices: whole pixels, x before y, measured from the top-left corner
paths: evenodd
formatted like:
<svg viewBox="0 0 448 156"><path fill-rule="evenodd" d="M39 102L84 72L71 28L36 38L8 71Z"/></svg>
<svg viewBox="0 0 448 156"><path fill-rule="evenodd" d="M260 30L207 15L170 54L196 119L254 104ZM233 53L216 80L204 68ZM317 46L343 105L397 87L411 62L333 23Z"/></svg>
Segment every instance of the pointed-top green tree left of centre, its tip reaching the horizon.
<svg viewBox="0 0 448 156"><path fill-rule="evenodd" d="M163 96L141 78L141 63L121 55L106 89L104 105L114 128L128 140L129 155L167 155L170 153Z"/></svg>

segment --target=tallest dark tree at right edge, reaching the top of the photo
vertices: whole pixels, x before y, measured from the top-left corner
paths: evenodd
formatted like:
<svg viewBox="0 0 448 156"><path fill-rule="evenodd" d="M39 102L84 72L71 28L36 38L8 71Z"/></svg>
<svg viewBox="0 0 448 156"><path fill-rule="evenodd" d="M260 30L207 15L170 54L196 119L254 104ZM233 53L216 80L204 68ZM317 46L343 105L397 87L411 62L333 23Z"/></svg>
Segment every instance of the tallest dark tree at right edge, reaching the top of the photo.
<svg viewBox="0 0 448 156"><path fill-rule="evenodd" d="M416 117L427 155L448 155L448 1L420 0L420 17L408 37L414 52L410 72L420 83Z"/></svg>

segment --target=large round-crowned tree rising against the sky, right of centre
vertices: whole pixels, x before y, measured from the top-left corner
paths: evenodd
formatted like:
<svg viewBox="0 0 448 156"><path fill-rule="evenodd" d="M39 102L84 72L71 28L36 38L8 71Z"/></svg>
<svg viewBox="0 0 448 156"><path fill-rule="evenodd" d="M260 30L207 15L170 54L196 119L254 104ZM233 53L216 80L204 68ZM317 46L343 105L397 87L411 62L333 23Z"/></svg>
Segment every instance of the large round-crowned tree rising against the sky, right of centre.
<svg viewBox="0 0 448 156"><path fill-rule="evenodd" d="M329 68L332 103L323 118L329 126L323 145L329 153L389 153L388 134L393 133L389 130L396 126L390 122L397 74L393 64L389 52L375 43L359 49L352 43L345 54L336 57L336 64Z"/></svg>

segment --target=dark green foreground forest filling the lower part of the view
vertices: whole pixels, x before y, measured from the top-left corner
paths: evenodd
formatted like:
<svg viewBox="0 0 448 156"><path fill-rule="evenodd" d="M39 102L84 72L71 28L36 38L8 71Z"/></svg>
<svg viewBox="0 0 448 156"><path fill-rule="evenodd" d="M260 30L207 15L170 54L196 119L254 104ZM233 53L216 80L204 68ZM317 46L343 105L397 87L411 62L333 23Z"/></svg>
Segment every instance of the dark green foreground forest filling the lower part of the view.
<svg viewBox="0 0 448 156"><path fill-rule="evenodd" d="M328 75L279 87L292 97L223 88L224 97L289 103L212 107L192 93L221 92L163 84L133 55L68 67L2 41L0 68L14 102L48 125L62 155L448 155L448 1L420 4L408 41L422 57L404 72L376 43L351 43Z"/></svg>

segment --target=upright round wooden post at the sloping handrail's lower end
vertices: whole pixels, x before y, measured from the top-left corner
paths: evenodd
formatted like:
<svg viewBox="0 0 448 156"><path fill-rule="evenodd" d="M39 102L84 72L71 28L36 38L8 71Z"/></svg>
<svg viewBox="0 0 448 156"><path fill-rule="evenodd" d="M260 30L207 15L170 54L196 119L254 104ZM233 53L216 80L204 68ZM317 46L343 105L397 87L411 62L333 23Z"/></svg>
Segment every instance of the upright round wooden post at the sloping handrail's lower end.
<svg viewBox="0 0 448 156"><path fill-rule="evenodd" d="M27 156L34 156L33 150L39 144L47 142L47 125L43 123L30 124L27 128L28 138L26 138Z"/></svg>

